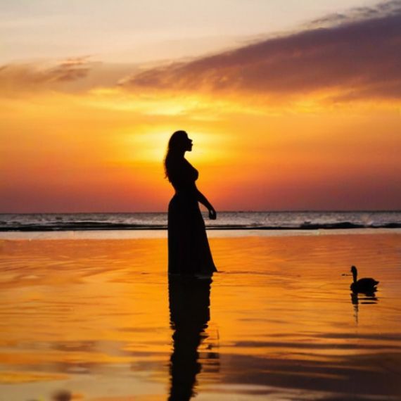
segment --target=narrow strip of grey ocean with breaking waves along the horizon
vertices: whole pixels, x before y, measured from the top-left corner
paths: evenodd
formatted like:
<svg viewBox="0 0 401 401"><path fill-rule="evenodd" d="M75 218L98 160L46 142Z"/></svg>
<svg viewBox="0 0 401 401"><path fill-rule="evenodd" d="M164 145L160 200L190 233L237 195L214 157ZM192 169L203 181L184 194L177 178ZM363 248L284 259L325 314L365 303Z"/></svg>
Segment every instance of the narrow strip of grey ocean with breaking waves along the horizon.
<svg viewBox="0 0 401 401"><path fill-rule="evenodd" d="M375 229L401 228L401 211L217 212L208 229ZM167 213L0 214L0 231L163 230Z"/></svg>

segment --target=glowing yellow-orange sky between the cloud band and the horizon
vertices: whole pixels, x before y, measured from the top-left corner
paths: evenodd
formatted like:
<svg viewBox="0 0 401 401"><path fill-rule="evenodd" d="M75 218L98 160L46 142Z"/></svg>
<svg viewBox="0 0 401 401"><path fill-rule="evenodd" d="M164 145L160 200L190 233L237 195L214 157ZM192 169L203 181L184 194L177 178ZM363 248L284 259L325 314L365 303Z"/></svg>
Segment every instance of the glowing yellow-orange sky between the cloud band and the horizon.
<svg viewBox="0 0 401 401"><path fill-rule="evenodd" d="M305 96L288 111L279 103L264 109L262 98L239 94L215 100L198 94L189 103L182 94L168 97L117 88L1 98L1 132L8 138L0 158L5 210L18 198L21 210L32 211L21 191L35 191L32 205L50 211L71 210L68 205L74 205L71 211L108 205L164 210L171 188L163 179L163 159L177 129L193 139L186 158L217 208L252 203L267 209L294 196L298 203L305 198L305 207L334 207L338 193L353 188L358 202L369 199L374 188L391 186L401 174L400 116L385 103L324 108ZM369 186L364 177L371 177ZM321 190L328 185L337 188L335 196ZM396 203L397 193L392 198Z"/></svg>

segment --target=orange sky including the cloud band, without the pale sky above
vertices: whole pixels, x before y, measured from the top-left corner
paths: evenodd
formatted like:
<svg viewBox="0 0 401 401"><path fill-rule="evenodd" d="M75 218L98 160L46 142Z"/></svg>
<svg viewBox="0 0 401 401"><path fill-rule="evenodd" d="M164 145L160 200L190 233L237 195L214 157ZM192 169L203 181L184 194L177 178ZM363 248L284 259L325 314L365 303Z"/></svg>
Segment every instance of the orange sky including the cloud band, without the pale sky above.
<svg viewBox="0 0 401 401"><path fill-rule="evenodd" d="M166 210L176 129L218 210L400 209L401 12L371 10L162 65L4 64L0 212Z"/></svg>

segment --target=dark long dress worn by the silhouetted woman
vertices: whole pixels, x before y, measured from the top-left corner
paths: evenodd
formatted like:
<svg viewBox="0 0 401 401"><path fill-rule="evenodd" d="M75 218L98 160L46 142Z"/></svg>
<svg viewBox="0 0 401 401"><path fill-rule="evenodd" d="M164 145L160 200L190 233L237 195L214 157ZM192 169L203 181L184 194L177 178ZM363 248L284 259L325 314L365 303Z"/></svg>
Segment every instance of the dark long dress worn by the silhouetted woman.
<svg viewBox="0 0 401 401"><path fill-rule="evenodd" d="M168 208L168 272L212 274L217 272L198 204L196 170L186 159L170 171L175 194Z"/></svg>

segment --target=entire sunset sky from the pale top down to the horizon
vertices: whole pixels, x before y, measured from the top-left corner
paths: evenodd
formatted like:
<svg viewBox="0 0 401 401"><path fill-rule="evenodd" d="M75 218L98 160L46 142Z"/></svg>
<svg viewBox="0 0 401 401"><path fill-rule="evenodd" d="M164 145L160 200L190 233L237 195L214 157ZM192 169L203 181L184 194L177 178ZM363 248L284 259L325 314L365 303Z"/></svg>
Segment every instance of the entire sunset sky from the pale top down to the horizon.
<svg viewBox="0 0 401 401"><path fill-rule="evenodd" d="M0 212L401 209L401 1L0 4Z"/></svg>

